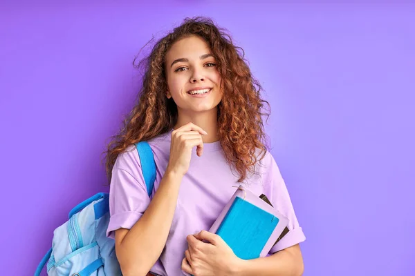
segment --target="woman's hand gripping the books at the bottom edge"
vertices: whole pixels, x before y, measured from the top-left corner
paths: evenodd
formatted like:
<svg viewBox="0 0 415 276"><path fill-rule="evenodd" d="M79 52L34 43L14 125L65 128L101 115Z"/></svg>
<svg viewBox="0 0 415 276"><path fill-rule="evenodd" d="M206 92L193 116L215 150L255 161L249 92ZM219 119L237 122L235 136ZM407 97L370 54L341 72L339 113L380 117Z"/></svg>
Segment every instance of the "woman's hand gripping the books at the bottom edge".
<svg viewBox="0 0 415 276"><path fill-rule="evenodd" d="M203 240L209 242L202 242ZM232 275L241 259L216 234L202 230L199 234L188 235L189 249L185 251L182 270L194 276Z"/></svg>

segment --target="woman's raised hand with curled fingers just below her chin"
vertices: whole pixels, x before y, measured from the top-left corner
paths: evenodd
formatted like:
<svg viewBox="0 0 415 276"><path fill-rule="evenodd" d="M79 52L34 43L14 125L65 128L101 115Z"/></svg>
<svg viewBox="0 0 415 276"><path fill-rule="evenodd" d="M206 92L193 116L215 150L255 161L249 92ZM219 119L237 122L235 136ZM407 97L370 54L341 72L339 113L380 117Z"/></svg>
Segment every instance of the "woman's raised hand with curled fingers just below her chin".
<svg viewBox="0 0 415 276"><path fill-rule="evenodd" d="M173 130L169 164L166 171L185 175L189 170L193 147L197 146L196 153L201 157L203 154L202 135L207 134L201 127L192 123Z"/></svg>

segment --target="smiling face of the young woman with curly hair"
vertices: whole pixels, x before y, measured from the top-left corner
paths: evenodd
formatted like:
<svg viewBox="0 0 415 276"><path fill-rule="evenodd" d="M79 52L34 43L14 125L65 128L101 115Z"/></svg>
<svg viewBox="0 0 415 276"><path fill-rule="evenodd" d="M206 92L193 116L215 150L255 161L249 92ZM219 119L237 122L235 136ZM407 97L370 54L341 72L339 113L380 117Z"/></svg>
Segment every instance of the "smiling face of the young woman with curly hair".
<svg viewBox="0 0 415 276"><path fill-rule="evenodd" d="M166 54L167 97L173 98L178 115L216 112L222 99L221 76L208 44L200 37L185 37Z"/></svg>

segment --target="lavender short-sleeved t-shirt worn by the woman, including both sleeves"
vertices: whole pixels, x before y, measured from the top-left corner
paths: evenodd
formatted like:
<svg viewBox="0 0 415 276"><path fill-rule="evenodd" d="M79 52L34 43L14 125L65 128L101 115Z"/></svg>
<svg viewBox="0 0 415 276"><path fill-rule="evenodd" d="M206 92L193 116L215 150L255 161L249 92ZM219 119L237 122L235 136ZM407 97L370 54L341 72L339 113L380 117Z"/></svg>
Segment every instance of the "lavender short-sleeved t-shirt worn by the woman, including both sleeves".
<svg viewBox="0 0 415 276"><path fill-rule="evenodd" d="M157 192L167 168L171 138L172 130L148 141L157 168L152 196ZM270 152L267 152L260 164L257 164L256 170L259 174L248 175L243 185L255 195L266 195L274 208L289 219L290 231L271 248L269 254L303 242L306 238L298 224L284 180ZM163 276L184 275L181 261L187 249L187 235L210 229L234 194L236 188L232 186L239 186L238 179L237 173L226 163L219 141L205 143L201 157L196 155L196 147L193 148L190 168L181 182L165 250L151 268L151 272ZM136 147L131 145L126 152L118 155L113 166L109 192L111 219L107 236L114 238L114 230L119 228L131 229L149 203L138 152Z"/></svg>

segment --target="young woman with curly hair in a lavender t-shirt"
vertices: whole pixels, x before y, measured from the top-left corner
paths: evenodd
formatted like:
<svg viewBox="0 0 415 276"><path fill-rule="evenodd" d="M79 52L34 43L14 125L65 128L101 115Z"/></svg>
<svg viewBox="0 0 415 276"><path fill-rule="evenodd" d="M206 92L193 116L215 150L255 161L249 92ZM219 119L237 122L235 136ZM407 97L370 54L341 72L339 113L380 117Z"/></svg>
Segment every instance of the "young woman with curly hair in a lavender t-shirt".
<svg viewBox="0 0 415 276"><path fill-rule="evenodd" d="M144 60L140 100L109 144L108 237L124 276L301 275L305 237L273 156L263 144L266 101L230 36L210 19L185 19ZM156 161L151 200L134 146ZM267 257L239 259L213 233L243 184L288 217ZM203 242L207 241L207 242Z"/></svg>

